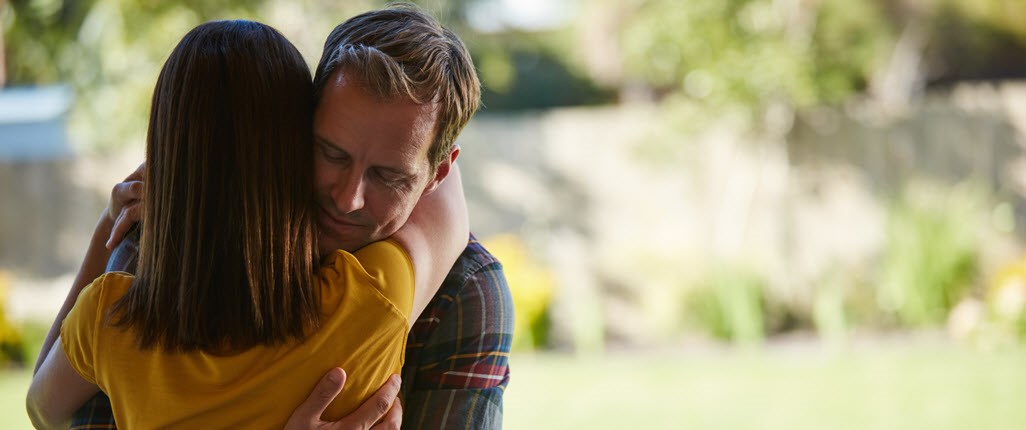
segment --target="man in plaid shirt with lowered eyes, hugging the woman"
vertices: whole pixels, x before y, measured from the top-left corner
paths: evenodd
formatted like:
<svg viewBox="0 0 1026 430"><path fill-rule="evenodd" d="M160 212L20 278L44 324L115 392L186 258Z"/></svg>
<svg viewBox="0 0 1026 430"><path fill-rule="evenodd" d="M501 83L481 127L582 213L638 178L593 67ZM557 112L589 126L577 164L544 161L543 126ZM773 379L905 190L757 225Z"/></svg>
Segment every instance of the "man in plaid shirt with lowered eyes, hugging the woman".
<svg viewBox="0 0 1026 430"><path fill-rule="evenodd" d="M462 41L405 5L337 27L314 84L320 243L355 250L398 230L420 197L444 180L460 153L456 138L477 110L480 84ZM132 181L114 194L122 201L141 197ZM108 270L131 270L133 246L119 245ZM500 428L513 329L502 266L471 236L434 299L415 303L415 314L422 309L402 370L403 428ZM329 373L308 403L318 403L318 390L338 389L339 380ZM314 417L299 421L315 421L319 412L308 403L293 420L305 412ZM112 424L109 406L94 399L73 428Z"/></svg>

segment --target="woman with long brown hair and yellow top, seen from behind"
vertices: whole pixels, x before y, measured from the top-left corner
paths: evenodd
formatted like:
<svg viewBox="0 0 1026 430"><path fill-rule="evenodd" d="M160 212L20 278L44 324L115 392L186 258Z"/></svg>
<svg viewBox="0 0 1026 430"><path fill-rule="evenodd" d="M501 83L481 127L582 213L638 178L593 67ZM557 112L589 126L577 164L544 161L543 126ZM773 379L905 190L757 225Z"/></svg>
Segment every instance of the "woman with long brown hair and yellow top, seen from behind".
<svg viewBox="0 0 1026 430"><path fill-rule="evenodd" d="M33 379L34 424L102 389L123 428L281 428L331 367L351 376L328 419L401 368L413 288L465 245L459 173L392 239L315 271L312 109L306 63L273 29L186 35L154 90L139 275L82 290Z"/></svg>

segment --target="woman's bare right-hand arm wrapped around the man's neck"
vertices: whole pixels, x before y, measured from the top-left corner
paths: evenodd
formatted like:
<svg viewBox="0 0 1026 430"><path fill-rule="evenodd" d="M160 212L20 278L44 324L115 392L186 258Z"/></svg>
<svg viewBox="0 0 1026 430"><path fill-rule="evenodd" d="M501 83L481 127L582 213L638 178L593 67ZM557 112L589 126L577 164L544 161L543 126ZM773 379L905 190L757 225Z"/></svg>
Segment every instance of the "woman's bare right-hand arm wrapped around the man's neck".
<svg viewBox="0 0 1026 430"><path fill-rule="evenodd" d="M412 325L470 238L467 200L456 162L438 187L421 197L409 220L392 238L406 248L413 262L413 307L409 319Z"/></svg>

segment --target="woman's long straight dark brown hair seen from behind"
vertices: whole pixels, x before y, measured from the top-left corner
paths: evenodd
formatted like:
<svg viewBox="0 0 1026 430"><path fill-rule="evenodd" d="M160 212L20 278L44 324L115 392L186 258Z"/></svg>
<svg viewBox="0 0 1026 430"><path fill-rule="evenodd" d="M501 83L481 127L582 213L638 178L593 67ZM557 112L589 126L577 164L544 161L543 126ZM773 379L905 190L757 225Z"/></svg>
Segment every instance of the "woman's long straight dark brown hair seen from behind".
<svg viewBox="0 0 1026 430"><path fill-rule="evenodd" d="M238 349L302 337L311 284L313 87L263 24L183 38L157 80L135 285L119 322L143 346Z"/></svg>

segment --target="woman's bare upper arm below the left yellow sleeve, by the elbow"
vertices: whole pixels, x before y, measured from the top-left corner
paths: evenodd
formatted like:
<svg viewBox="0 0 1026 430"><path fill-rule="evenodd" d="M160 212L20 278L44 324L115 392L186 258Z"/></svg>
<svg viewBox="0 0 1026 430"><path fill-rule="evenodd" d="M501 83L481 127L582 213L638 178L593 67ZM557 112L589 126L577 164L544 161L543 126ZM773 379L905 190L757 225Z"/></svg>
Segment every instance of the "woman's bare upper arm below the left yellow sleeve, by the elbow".
<svg viewBox="0 0 1026 430"><path fill-rule="evenodd" d="M82 379L68 361L57 337L44 357L42 366L32 377L26 406L29 419L37 429L68 428L75 411L100 391L100 387Z"/></svg>

